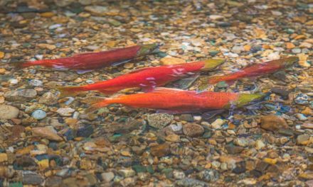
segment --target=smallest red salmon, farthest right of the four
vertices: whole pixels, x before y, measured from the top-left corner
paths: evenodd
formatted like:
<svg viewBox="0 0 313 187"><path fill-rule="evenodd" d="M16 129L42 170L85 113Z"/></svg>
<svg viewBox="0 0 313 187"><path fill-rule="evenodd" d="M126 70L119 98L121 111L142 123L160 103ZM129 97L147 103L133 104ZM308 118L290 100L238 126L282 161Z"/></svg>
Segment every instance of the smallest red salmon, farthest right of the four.
<svg viewBox="0 0 313 187"><path fill-rule="evenodd" d="M264 74L274 73L281 69L290 67L292 66L292 64L298 61L298 57L287 57L279 60L264 62L262 64L253 64L250 67L240 69L238 72L235 72L233 74L208 77L208 79L201 82L201 84L199 85L199 89L206 89L209 84L216 84L220 81L226 81L226 83L228 84L233 84L233 81L243 79L245 77L258 77Z"/></svg>

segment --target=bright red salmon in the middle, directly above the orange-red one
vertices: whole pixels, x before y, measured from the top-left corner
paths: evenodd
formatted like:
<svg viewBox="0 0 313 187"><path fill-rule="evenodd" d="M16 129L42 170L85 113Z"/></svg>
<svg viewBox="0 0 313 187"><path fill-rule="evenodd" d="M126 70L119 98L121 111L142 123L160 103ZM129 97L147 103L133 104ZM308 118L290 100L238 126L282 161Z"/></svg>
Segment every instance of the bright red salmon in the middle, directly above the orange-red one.
<svg viewBox="0 0 313 187"><path fill-rule="evenodd" d="M157 86L163 86L170 81L176 81L196 72L209 71L222 64L224 60L202 60L176 65L164 65L159 67L147 67L137 69L115 79L100 81L85 86L63 86L57 89L61 96L75 96L82 91L100 91L104 94L114 94L117 91L128 88L141 88L150 91Z"/></svg>

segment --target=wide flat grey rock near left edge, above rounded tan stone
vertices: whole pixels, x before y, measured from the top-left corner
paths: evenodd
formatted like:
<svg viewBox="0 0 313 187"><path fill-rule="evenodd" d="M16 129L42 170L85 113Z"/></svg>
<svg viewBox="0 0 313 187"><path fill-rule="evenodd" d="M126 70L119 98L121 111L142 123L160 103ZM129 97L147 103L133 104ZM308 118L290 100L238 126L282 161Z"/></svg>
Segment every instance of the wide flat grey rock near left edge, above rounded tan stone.
<svg viewBox="0 0 313 187"><path fill-rule="evenodd" d="M20 89L4 94L7 101L31 101L31 99L36 96L37 91L34 89Z"/></svg>

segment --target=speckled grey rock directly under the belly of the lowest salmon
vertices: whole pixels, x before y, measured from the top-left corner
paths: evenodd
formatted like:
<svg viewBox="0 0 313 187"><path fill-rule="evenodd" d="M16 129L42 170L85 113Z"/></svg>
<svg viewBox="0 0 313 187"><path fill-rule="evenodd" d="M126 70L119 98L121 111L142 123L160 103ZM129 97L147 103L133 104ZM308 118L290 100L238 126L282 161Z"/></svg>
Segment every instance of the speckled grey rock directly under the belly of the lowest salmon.
<svg viewBox="0 0 313 187"><path fill-rule="evenodd" d="M154 128L164 128L169 125L174 120L174 115L169 115L166 113L154 113L147 115L147 120L150 126Z"/></svg>

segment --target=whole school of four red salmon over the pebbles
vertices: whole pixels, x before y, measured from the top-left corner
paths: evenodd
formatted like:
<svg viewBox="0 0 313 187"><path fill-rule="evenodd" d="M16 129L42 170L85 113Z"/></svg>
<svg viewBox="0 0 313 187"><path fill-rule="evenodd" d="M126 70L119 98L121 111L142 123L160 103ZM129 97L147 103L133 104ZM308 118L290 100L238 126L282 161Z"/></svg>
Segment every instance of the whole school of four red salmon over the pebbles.
<svg viewBox="0 0 313 187"><path fill-rule="evenodd" d="M54 69L73 69L78 73L84 73L90 72L92 69L137 60L140 57L158 52L158 47L158 44L134 45L132 47L124 47L104 52L88 52L55 60L14 62L12 65L18 68L40 65ZM92 113L99 108L110 106L111 104L122 104L132 108L149 108L161 113L198 113L240 108L253 101L260 100L265 96L265 94L206 91L210 84L216 84L220 81L233 84L233 82L238 79L272 74L291 67L292 64L298 61L298 57L285 57L280 60L253 64L250 67L244 67L232 74L208 77L198 85L198 91L161 88L159 86L165 86L172 81L194 76L200 72L211 71L223 64L224 60L208 59L184 64L147 67L95 84L59 86L57 89L60 91L61 97L75 96L83 91L100 91L102 94L106 95L115 94L118 91L129 88L139 88L144 91L144 93L124 94L111 98L85 98L83 101L91 104L90 108L85 110L85 113Z"/></svg>

